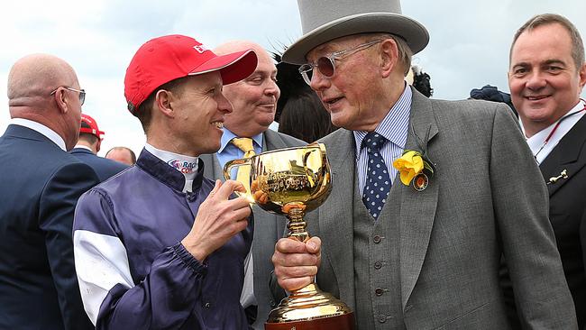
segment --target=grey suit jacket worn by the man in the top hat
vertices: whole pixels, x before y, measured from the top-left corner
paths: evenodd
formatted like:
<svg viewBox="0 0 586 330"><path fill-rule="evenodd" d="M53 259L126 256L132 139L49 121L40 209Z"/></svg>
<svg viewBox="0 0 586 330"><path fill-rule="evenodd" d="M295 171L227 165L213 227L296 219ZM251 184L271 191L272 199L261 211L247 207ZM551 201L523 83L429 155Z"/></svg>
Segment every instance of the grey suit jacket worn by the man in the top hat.
<svg viewBox="0 0 586 330"><path fill-rule="evenodd" d="M424 191L397 177L387 201L397 203L397 211L378 220L399 222L400 264L391 267L400 268L407 329L507 329L501 252L527 327L575 329L547 190L510 110L477 100L430 100L413 91L409 125L406 149L420 149L414 133L424 139L429 132L435 176ZM306 215L308 232L323 243L317 284L354 307L363 301L356 295L369 293L354 292L353 133L340 129L322 142L334 187L325 204Z"/></svg>

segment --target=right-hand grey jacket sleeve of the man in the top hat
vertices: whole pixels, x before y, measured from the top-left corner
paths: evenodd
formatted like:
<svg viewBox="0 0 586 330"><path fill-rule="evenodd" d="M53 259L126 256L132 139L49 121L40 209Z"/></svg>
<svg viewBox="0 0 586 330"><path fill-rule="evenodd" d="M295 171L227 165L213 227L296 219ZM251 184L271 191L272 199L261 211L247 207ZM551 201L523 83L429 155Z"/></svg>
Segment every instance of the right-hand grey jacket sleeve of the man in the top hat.
<svg viewBox="0 0 586 330"><path fill-rule="evenodd" d="M576 329L548 218L545 181L512 113L499 107L493 119L490 185L519 318L526 329Z"/></svg>

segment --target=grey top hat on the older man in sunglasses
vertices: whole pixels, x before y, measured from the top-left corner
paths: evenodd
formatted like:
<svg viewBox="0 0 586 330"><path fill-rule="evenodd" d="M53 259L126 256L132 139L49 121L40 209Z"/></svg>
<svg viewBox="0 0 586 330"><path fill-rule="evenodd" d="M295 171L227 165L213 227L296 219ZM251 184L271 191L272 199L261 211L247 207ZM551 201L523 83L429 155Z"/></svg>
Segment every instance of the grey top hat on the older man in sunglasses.
<svg viewBox="0 0 586 330"><path fill-rule="evenodd" d="M407 41L417 53L426 48L429 33L401 14L399 0L298 0L303 36L283 53L282 60L306 63L309 50L327 41L365 32L388 32Z"/></svg>

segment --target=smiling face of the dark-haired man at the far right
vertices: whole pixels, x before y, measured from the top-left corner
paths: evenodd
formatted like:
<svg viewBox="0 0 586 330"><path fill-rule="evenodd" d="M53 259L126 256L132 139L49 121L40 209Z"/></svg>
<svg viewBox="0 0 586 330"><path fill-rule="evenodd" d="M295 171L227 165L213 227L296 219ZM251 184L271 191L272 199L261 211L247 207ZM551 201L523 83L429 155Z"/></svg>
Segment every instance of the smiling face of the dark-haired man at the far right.
<svg viewBox="0 0 586 330"><path fill-rule="evenodd" d="M586 65L576 68L570 33L559 23L521 33L511 50L508 86L528 137L578 103Z"/></svg>

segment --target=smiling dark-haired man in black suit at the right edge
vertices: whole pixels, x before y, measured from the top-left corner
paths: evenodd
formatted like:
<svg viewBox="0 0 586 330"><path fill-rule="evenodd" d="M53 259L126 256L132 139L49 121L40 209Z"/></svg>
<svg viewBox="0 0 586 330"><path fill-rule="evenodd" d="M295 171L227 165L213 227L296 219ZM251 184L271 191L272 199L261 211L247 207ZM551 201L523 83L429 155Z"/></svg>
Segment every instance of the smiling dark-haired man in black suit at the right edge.
<svg viewBox="0 0 586 330"><path fill-rule="evenodd" d="M540 14L517 31L508 86L547 184L549 220L580 329L586 329L586 102L580 98L584 84L583 41L565 17ZM511 298L513 289L505 288ZM517 320L515 309L509 304Z"/></svg>

